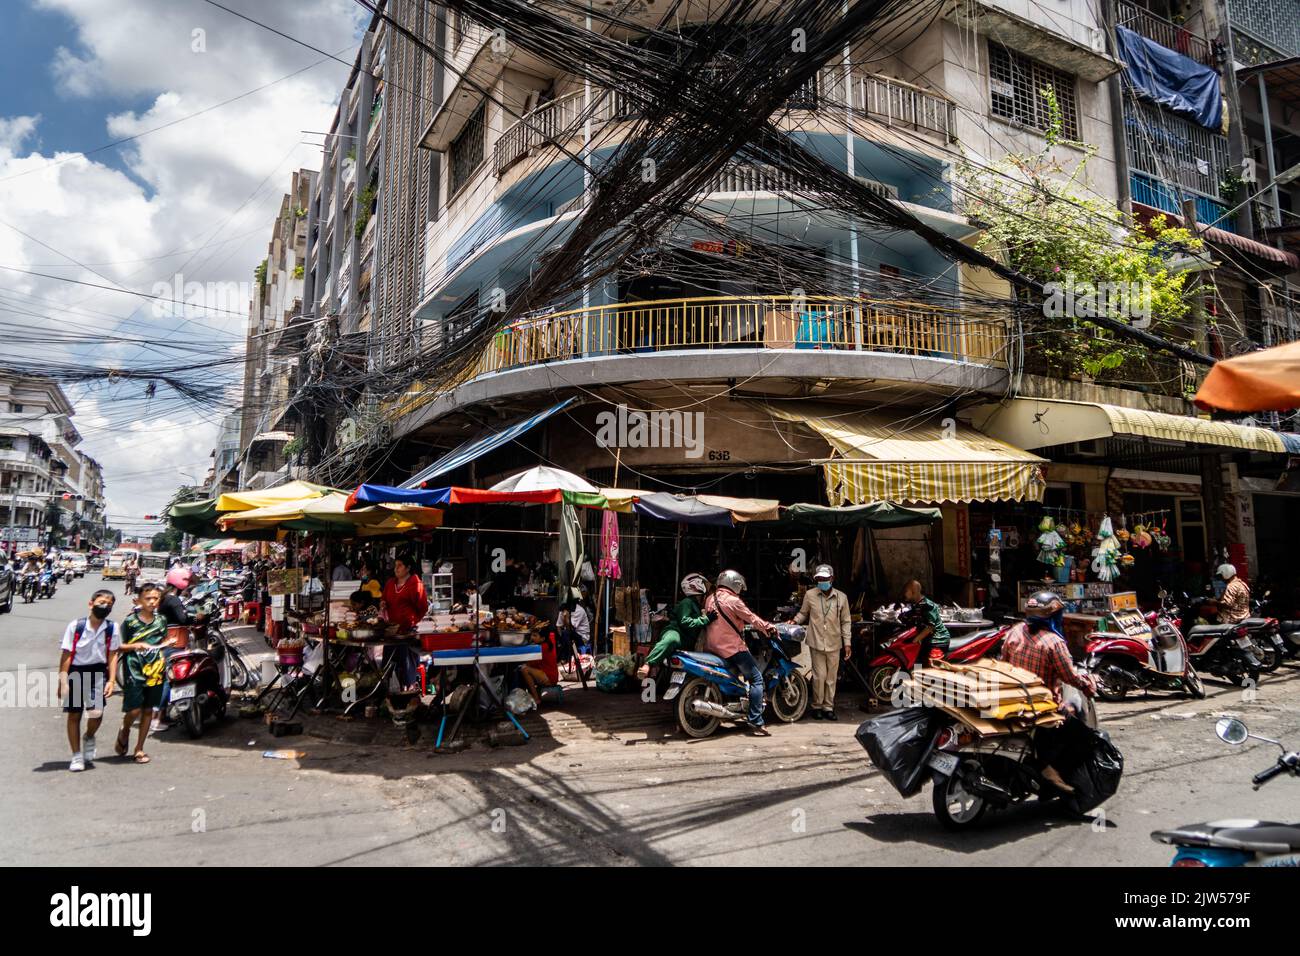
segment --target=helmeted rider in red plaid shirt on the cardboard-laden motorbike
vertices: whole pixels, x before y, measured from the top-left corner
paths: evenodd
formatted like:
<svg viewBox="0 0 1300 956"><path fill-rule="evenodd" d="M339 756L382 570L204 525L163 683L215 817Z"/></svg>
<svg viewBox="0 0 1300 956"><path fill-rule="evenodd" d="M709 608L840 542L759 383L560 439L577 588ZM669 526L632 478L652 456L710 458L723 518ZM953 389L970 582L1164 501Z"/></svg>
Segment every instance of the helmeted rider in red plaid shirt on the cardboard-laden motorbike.
<svg viewBox="0 0 1300 956"><path fill-rule="evenodd" d="M1097 693L1097 683L1091 674L1080 674L1070 659L1061 623L1065 602L1050 591L1040 591L1024 602L1024 620L1015 624L1002 641L1002 659L1015 667L1037 674L1052 691L1057 706L1070 715L1080 717L1078 708L1062 700L1065 685L1076 687L1088 697ZM1043 765L1043 777L1066 793L1074 787L1062 779L1053 766L1066 740L1060 727L1039 727L1034 734L1034 749Z"/></svg>

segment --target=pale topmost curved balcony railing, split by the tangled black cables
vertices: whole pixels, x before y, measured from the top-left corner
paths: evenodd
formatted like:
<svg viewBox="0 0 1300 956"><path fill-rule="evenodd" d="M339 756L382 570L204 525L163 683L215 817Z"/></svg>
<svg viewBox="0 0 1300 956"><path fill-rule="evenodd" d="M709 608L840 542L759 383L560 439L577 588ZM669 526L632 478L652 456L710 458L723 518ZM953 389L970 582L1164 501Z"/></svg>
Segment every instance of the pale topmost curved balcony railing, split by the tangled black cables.
<svg viewBox="0 0 1300 956"><path fill-rule="evenodd" d="M532 150L547 143L564 143L582 131L586 122L582 91L566 94L537 107L510 126L493 146L493 169L500 176ZM956 105L944 96L900 79L876 74L854 73L849 101L844 96L844 70L828 66L801 87L789 100L790 109L828 111L852 105L853 112L880 120L889 126L909 126L936 133L953 140ZM590 121L593 133L607 124L636 116L630 98L607 92L593 95Z"/></svg>

